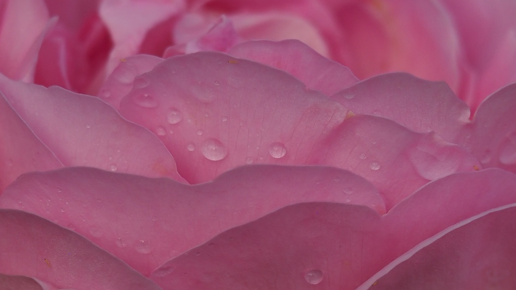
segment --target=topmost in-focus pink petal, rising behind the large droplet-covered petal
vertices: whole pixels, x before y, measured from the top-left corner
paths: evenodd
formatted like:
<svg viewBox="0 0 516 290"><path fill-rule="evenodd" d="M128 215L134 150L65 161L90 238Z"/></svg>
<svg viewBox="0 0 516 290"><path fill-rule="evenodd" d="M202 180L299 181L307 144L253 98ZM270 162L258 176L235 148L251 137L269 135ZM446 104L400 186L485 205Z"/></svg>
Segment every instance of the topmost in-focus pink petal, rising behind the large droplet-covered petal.
<svg viewBox="0 0 516 290"><path fill-rule="evenodd" d="M299 78L309 89L327 95L358 82L348 68L321 56L296 40L248 41L233 47L229 54L286 71Z"/></svg>

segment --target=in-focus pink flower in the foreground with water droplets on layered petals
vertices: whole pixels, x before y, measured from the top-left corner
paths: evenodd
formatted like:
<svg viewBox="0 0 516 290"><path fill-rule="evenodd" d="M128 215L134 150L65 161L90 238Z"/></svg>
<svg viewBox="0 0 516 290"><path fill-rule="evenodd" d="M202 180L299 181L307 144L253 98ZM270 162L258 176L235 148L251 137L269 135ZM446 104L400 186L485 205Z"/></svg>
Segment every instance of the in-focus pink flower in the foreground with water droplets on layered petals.
<svg viewBox="0 0 516 290"><path fill-rule="evenodd" d="M0 283L513 287L514 90L470 116L295 40L128 57L98 97L0 76Z"/></svg>

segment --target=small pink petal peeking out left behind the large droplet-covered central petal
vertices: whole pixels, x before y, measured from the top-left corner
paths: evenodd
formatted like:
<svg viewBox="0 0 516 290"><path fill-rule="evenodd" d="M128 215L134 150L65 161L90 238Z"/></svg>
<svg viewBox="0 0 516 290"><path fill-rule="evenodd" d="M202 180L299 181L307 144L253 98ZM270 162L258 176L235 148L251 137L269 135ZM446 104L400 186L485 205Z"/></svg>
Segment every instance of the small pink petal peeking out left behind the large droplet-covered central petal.
<svg viewBox="0 0 516 290"><path fill-rule="evenodd" d="M115 109L120 109L120 102L133 89L133 86L136 88L146 86L143 78L140 77L135 82L135 77L151 71L162 61L162 58L143 54L123 59L107 77L99 91L99 98L115 107Z"/></svg>

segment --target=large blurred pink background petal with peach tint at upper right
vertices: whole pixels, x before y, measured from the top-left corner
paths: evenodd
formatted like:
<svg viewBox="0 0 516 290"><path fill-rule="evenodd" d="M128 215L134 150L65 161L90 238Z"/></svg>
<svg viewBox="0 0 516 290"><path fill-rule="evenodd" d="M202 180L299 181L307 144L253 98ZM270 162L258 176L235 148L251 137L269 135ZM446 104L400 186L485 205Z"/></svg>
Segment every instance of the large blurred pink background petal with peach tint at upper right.
<svg viewBox="0 0 516 290"><path fill-rule="evenodd" d="M458 90L458 34L438 2L362 1L335 14L347 39L342 62L359 78L405 71Z"/></svg>

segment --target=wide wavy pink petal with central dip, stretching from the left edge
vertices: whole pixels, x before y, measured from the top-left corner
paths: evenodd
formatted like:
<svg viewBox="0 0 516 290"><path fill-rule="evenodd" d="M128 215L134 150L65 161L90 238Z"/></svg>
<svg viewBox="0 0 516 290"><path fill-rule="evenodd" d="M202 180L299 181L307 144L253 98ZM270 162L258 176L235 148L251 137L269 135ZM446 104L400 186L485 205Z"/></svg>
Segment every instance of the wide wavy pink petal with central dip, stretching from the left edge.
<svg viewBox="0 0 516 290"><path fill-rule="evenodd" d="M385 213L371 184L329 167L240 167L198 186L69 168L23 175L0 198L2 207L74 229L146 276L222 231L311 201Z"/></svg>

